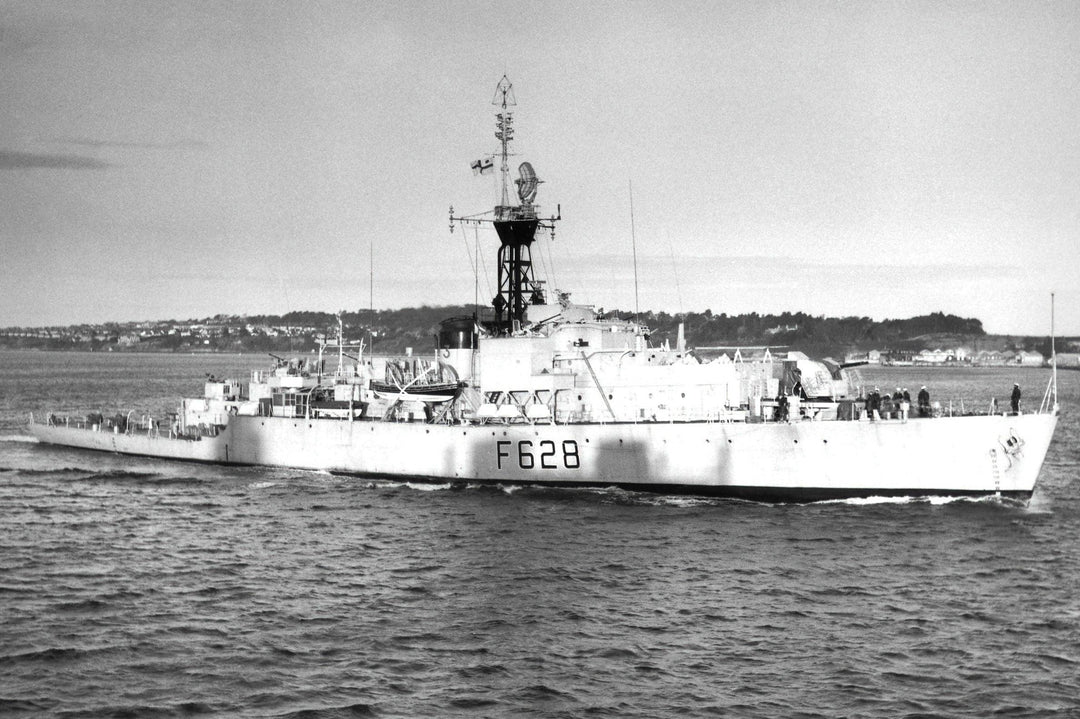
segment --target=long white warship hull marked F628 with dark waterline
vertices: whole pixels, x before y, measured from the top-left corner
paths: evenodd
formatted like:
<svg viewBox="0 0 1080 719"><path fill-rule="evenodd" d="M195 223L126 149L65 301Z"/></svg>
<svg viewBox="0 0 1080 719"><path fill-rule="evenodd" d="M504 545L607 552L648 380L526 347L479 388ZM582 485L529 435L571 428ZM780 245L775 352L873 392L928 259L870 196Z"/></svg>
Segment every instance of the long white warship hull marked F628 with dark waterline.
<svg viewBox="0 0 1080 719"><path fill-rule="evenodd" d="M471 424L233 417L217 437L151 439L35 425L42 442L338 474L619 486L767 501L1029 497L1052 415L907 422ZM72 435L100 438L72 442Z"/></svg>

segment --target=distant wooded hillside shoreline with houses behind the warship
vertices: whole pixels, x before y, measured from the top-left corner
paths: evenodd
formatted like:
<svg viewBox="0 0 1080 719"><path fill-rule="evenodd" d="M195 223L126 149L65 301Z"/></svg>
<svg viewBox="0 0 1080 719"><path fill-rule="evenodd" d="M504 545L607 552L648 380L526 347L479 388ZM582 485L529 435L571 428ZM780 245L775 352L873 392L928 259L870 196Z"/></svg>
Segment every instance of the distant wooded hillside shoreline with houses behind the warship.
<svg viewBox="0 0 1080 719"><path fill-rule="evenodd" d="M669 314L611 310L609 317L636 318L651 328L654 344L674 344L681 326L687 344L708 351L769 347L799 350L812 356L880 365L1042 366L1050 356L1049 337L993 336L982 322L932 313L907 320L825 317L800 312L728 315L711 310ZM480 320L483 322L485 310ZM0 349L93 352L271 352L307 353L320 338L335 337L338 316L346 339L363 340L380 354L413 349L424 353L442 320L474 316L472 306L289 312L284 315L215 315L170 320L0 328ZM1077 338L1057 338L1058 365L1080 367Z"/></svg>

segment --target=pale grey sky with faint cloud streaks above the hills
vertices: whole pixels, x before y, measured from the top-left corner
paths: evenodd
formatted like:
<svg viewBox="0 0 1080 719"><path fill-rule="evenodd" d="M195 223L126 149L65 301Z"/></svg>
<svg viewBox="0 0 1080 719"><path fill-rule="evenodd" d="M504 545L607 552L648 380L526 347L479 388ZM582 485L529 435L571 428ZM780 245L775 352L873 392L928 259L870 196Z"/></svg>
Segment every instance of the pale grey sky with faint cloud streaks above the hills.
<svg viewBox="0 0 1080 719"><path fill-rule="evenodd" d="M1075 0L0 0L0 327L488 302L503 74L572 301L1080 335Z"/></svg>

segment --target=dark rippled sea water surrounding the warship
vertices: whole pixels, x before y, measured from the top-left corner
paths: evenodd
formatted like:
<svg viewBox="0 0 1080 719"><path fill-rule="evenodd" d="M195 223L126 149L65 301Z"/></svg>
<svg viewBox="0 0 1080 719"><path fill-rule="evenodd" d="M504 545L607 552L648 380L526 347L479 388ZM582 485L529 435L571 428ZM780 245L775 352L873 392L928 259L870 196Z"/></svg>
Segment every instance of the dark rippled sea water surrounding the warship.
<svg viewBox="0 0 1080 719"><path fill-rule="evenodd" d="M0 362L0 716L1080 715L1080 372L1029 504L769 505L39 446L29 411L262 358ZM1049 377L864 375L976 407Z"/></svg>

